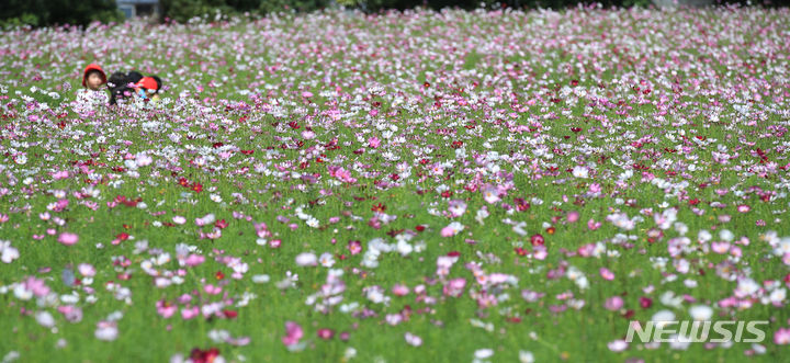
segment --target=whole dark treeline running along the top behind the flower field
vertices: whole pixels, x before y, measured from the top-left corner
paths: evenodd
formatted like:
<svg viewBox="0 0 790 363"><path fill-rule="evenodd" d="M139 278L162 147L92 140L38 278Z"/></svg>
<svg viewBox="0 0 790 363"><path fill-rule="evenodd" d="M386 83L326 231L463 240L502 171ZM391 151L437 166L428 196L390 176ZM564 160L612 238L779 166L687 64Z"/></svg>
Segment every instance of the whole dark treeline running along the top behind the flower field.
<svg viewBox="0 0 790 363"><path fill-rule="evenodd" d="M443 8L475 9L509 7L515 9L550 8L562 9L577 4L600 3L611 7L650 7L651 0L160 0L161 19L185 22L195 16L215 14L250 13L263 15L271 12L307 12L345 5L348 9L361 9L365 12L380 12L390 9L405 10L426 7L435 10ZM787 5L790 0L714 0L718 4L741 5ZM84 25L92 21L122 21L115 0L0 0L0 27L29 24L46 26L54 24Z"/></svg>

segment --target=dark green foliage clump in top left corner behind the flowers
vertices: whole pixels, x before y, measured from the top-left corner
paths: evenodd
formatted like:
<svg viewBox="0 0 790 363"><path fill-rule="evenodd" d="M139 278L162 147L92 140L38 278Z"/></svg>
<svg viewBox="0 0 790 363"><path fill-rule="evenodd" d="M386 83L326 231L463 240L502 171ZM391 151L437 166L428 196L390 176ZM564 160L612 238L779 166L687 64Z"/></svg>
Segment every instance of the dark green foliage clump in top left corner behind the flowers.
<svg viewBox="0 0 790 363"><path fill-rule="evenodd" d="M4 0L0 26L86 25L123 18L114 0Z"/></svg>

